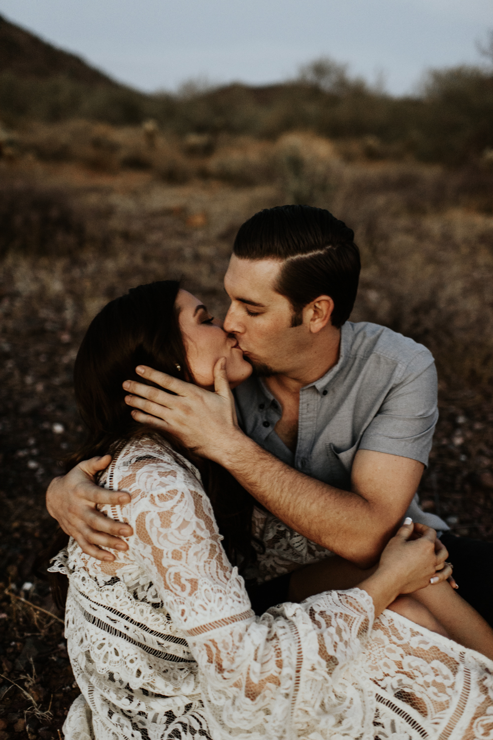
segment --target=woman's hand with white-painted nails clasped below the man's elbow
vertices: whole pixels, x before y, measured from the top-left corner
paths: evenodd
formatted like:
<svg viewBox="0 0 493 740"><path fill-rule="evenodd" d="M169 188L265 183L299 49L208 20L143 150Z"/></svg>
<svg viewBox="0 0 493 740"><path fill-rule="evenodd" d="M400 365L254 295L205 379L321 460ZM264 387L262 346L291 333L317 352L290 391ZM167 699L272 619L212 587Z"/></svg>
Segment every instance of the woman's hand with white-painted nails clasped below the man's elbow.
<svg viewBox="0 0 493 740"><path fill-rule="evenodd" d="M452 568L448 552L434 529L423 524L404 524L381 554L378 568L359 588L370 594L378 616L401 593L412 593L446 581Z"/></svg>

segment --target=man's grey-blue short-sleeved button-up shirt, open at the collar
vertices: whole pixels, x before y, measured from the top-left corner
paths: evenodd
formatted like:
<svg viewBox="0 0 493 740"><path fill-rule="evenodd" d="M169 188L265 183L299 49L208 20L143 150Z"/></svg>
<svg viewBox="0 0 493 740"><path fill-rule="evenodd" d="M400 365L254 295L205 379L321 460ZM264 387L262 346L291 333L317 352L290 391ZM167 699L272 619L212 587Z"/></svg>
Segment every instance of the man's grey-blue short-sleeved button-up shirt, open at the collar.
<svg viewBox="0 0 493 740"><path fill-rule="evenodd" d="M287 465L336 488L350 490L358 449L428 462L438 420L437 374L431 352L374 323L341 328L339 361L299 393L299 426L293 453L274 429L282 408L261 378L234 391L239 423ZM425 514L418 499L408 511L415 522L448 529Z"/></svg>

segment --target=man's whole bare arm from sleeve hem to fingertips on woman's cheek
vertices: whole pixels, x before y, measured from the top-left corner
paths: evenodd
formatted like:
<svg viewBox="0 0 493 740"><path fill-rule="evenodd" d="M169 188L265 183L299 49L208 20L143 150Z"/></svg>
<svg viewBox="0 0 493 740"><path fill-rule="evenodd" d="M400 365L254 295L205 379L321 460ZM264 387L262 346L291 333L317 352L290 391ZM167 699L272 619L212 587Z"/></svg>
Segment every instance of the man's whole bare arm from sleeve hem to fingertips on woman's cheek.
<svg viewBox="0 0 493 740"><path fill-rule="evenodd" d="M166 374L143 369L146 380L176 395L141 383L126 383L137 421L171 431L188 448L219 462L276 517L308 539L357 565L378 559L415 494L424 465L408 457L359 450L351 491L290 468L239 429L234 400L221 367L216 392L203 391Z"/></svg>

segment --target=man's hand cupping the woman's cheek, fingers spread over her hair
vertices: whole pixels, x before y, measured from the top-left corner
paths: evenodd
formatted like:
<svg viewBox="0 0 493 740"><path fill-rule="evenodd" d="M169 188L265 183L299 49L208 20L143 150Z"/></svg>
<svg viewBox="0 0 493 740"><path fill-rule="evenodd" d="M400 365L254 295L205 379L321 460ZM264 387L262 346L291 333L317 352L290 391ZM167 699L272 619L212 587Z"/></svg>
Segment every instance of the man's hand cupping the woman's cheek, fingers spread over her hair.
<svg viewBox="0 0 493 740"><path fill-rule="evenodd" d="M137 367L143 378L176 395L126 380L123 388L132 395L126 396L125 401L135 408L132 417L171 432L186 448L220 462L231 437L244 436L238 426L225 364L221 357L214 366L214 393L152 368Z"/></svg>

